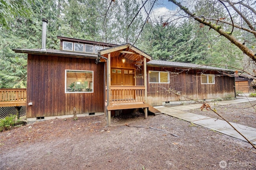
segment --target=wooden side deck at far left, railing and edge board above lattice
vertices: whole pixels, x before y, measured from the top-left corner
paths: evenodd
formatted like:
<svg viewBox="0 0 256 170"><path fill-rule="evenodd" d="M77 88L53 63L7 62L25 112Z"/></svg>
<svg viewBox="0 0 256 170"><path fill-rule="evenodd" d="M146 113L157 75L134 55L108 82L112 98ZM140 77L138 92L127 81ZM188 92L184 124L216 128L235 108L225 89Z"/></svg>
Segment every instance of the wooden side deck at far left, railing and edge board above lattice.
<svg viewBox="0 0 256 170"><path fill-rule="evenodd" d="M0 107L26 106L26 88L1 88Z"/></svg>

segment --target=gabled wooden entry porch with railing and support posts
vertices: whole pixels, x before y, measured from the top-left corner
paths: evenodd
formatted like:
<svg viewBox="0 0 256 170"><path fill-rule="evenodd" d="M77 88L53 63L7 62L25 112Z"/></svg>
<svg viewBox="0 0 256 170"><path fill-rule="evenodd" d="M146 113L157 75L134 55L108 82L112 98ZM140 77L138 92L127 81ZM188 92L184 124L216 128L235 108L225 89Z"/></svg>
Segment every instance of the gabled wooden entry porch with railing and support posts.
<svg viewBox="0 0 256 170"><path fill-rule="evenodd" d="M100 50L99 62L106 62L106 117L111 111L143 108L148 116L146 62L152 58L129 43Z"/></svg>

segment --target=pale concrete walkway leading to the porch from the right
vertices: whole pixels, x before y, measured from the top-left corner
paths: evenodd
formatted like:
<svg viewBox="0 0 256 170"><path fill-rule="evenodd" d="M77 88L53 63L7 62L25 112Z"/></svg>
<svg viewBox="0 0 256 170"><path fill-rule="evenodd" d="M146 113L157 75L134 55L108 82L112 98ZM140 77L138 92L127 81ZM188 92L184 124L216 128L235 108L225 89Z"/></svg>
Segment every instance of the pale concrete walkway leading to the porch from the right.
<svg viewBox="0 0 256 170"><path fill-rule="evenodd" d="M218 101L215 102L216 106L228 105L228 104L238 104L248 101L256 101L256 98L246 98L240 97L235 100L227 100L227 101ZM179 119L192 122L196 125L200 125L203 127L207 127L209 129L213 129L214 131L218 131L220 133L229 135L231 137L235 137L237 139L241 139L246 141L238 132L236 132L226 121L217 120L212 117L207 117L203 115L197 115L194 113L187 112L186 110L190 109L198 109L202 106L202 104L189 104L185 106L173 106L173 107L164 107L164 106L156 106L154 108L158 109L162 113L166 115L170 115L172 117L177 117ZM213 102L210 102L210 106L214 106ZM256 145L256 128L239 125L237 123L231 123L240 133L242 133L248 140L250 140L254 145ZM247 142L247 141L246 141Z"/></svg>

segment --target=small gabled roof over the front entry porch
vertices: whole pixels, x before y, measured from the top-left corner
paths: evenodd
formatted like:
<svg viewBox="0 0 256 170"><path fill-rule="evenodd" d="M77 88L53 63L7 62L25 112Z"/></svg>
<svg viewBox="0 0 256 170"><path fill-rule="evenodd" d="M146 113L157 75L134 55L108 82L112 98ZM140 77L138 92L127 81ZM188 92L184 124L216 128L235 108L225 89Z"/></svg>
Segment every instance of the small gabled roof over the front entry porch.
<svg viewBox="0 0 256 170"><path fill-rule="evenodd" d="M110 47L108 49L102 49L99 51L99 55L102 55L104 57L108 57L108 53L111 53L111 57L118 57L120 55L123 55L122 57L125 57L132 61L136 61L141 56L146 57L147 61L152 60L152 57L150 55L141 51L137 47L134 47L130 43Z"/></svg>

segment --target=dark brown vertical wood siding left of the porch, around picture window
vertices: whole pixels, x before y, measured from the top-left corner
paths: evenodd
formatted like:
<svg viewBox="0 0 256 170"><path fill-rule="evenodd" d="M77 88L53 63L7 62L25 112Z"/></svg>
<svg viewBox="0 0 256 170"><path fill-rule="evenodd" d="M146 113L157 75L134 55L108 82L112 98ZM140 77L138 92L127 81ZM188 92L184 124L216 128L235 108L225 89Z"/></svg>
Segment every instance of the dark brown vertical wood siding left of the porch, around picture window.
<svg viewBox="0 0 256 170"><path fill-rule="evenodd" d="M104 112L104 63L94 59L28 54L27 117ZM65 69L94 71L93 93L65 93ZM102 90L100 90L102 89Z"/></svg>

